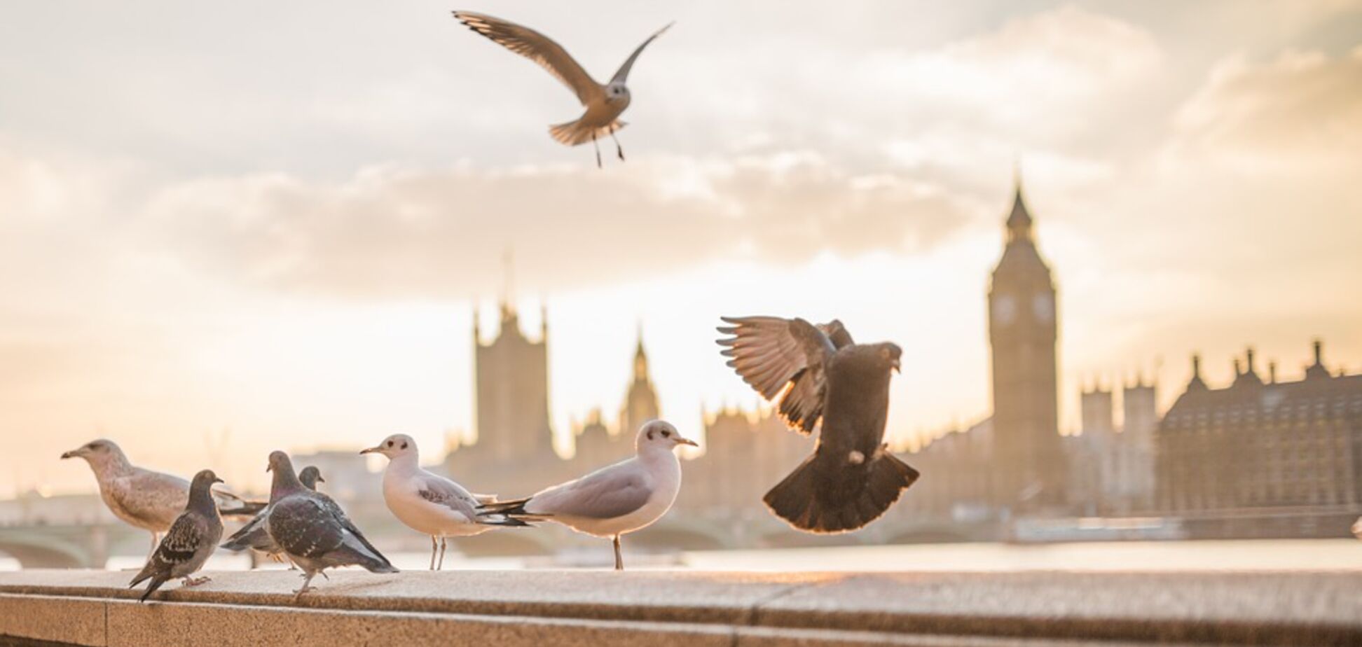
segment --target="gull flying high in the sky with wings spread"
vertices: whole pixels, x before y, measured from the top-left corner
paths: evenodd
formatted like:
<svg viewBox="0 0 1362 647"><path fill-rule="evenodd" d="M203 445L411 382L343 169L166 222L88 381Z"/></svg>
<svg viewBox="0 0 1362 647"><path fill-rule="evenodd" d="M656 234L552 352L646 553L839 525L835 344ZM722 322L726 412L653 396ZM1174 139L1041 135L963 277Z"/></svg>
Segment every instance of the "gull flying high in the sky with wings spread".
<svg viewBox="0 0 1362 647"><path fill-rule="evenodd" d="M454 18L493 42L538 63L577 95L577 101L587 112L582 113L576 121L550 125L549 135L553 139L567 146L591 142L597 150L597 168L601 168L601 144L597 143L597 138L609 135L614 140L614 150L620 155L620 161L624 161L624 148L620 147L620 140L616 139L614 133L624 128L625 124L618 117L625 108L629 108L629 86L625 84L629 68L643 53L643 48L662 35L673 23L667 23L666 27L643 41L643 45L639 45L624 61L624 65L620 65L620 69L614 72L610 83L601 84L568 54L568 50L563 49L563 45L530 27L471 11L455 11Z"/></svg>

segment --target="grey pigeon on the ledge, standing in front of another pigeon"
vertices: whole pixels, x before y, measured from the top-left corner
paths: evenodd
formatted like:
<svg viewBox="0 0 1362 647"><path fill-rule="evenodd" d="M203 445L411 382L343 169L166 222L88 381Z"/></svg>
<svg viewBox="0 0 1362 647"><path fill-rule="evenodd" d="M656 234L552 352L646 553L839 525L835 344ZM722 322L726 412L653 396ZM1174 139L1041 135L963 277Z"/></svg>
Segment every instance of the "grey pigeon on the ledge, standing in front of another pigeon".
<svg viewBox="0 0 1362 647"><path fill-rule="evenodd" d="M297 597L312 590L312 578L327 568L360 565L376 573L396 568L373 548L331 497L309 490L293 473L293 462L281 451L270 454L274 485L264 527L283 554L302 569Z"/></svg>

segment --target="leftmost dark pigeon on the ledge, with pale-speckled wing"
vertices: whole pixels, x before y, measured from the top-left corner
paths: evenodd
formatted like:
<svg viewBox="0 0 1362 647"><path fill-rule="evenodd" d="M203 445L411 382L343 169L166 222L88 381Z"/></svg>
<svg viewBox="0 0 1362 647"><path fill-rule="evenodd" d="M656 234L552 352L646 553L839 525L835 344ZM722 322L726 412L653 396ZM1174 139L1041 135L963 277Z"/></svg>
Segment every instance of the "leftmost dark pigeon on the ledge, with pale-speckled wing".
<svg viewBox="0 0 1362 647"><path fill-rule="evenodd" d="M147 579L151 580L139 602L146 602L161 584L174 578L184 578L184 586L208 582L208 578L189 578L189 575L203 568L203 563L208 561L208 556L218 546L218 539L222 538L222 518L218 516L218 505L212 501L212 484L221 482L212 470L193 475L188 505L170 524L170 530L151 553L147 565L142 567L128 584L128 588L132 588Z"/></svg>

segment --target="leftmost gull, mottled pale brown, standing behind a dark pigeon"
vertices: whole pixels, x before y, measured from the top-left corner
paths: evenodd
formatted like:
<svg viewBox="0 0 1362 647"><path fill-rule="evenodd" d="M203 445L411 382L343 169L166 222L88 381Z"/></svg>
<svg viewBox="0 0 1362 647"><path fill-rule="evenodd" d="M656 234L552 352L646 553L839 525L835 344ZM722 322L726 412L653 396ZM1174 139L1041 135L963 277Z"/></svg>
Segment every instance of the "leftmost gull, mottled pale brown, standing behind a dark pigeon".
<svg viewBox="0 0 1362 647"><path fill-rule="evenodd" d="M170 524L189 503L188 481L132 464L112 440L91 440L61 458L80 458L90 464L104 504L118 519L150 531L151 552L161 542L161 534L170 530ZM222 514L229 516L249 516L264 508L263 503L245 501L223 490L212 490L212 497Z"/></svg>

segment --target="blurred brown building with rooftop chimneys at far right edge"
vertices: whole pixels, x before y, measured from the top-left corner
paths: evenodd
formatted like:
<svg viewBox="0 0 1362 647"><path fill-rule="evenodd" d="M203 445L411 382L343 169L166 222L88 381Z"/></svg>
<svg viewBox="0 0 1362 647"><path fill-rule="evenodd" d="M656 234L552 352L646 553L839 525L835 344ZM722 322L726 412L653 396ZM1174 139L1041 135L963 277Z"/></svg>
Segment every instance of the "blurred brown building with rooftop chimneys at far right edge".
<svg viewBox="0 0 1362 647"><path fill-rule="evenodd" d="M1192 379L1158 425L1158 505L1173 515L1362 504L1362 375L1332 373L1323 346L1297 381L1258 376L1253 351L1235 379Z"/></svg>

